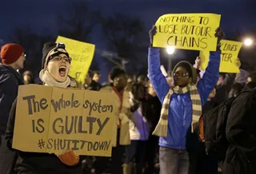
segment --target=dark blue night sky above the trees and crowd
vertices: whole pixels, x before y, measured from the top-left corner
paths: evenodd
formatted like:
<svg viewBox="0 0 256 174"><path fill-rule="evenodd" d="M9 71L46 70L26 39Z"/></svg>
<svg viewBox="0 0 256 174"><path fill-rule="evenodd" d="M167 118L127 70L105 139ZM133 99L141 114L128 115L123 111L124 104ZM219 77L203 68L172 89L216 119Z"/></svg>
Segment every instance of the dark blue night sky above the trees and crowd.
<svg viewBox="0 0 256 174"><path fill-rule="evenodd" d="M50 34L55 34L57 17L59 14L64 16L69 14L70 1L2 1L0 40L6 41L11 35L11 30L17 26L30 26L37 32L47 30ZM159 16L171 13L222 14L221 26L227 36L236 30L246 32L256 28L255 0L87 0L86 2L92 9L101 10L104 15L112 14L114 11L136 15L145 22L148 30ZM96 46L102 47L103 45L97 43L100 38L97 38L98 34L95 32L93 42Z"/></svg>

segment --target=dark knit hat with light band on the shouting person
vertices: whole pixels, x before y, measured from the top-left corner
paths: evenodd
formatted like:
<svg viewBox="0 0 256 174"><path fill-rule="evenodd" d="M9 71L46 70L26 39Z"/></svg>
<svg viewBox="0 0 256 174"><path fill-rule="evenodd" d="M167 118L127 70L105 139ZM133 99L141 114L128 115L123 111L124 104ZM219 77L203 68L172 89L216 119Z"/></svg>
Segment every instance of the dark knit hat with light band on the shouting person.
<svg viewBox="0 0 256 174"><path fill-rule="evenodd" d="M42 48L42 69L46 68L46 65L54 56L64 53L67 57L69 53L66 51L66 46L62 43L47 42Z"/></svg>

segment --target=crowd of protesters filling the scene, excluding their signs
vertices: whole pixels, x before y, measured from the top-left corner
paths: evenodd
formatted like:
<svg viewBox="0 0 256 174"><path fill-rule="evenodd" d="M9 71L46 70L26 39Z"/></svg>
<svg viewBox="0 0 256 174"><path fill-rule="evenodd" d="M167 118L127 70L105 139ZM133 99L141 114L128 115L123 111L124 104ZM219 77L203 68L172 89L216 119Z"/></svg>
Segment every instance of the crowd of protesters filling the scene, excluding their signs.
<svg viewBox="0 0 256 174"><path fill-rule="evenodd" d="M113 174L253 174L256 173L256 73L219 73L221 29L216 51L210 52L205 71L181 61L165 77L160 69L160 51L152 46L155 26L150 30L148 76L129 77L121 67L114 67L109 81L100 84L101 74L87 73L85 83L68 75L72 59L63 44L48 42L42 49L41 85L80 88L99 93L113 93L118 108L112 133L112 156L74 156L21 152L12 148L18 86L34 84L34 74L26 71L22 45L2 46L0 65L0 173L113 173ZM238 67L240 67L238 61ZM232 99L232 100L231 100ZM230 101L225 129L228 142L220 160L210 153L202 140L201 118L212 117L219 106ZM255 106L254 106L255 105ZM218 117L219 113L215 117ZM203 125L204 129L212 125ZM206 127L206 128L205 128ZM205 135L206 136L206 135ZM216 147L217 149L218 147ZM67 154L68 153L68 154Z"/></svg>

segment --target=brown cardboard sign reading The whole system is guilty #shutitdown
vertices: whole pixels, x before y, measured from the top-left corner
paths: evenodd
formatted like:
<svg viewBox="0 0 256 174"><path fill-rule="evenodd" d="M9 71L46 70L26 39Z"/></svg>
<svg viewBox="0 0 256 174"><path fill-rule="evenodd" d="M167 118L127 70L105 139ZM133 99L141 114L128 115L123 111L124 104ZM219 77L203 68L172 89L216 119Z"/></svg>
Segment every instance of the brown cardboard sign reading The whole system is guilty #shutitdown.
<svg viewBox="0 0 256 174"><path fill-rule="evenodd" d="M111 156L116 108L112 93L22 85L13 148L22 152Z"/></svg>

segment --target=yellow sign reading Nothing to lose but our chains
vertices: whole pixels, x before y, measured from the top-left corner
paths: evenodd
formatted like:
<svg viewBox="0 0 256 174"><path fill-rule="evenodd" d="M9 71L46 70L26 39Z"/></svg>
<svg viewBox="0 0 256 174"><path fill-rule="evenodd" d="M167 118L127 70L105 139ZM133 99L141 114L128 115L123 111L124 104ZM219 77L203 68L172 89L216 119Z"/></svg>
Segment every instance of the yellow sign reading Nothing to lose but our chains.
<svg viewBox="0 0 256 174"><path fill-rule="evenodd" d="M155 23L154 47L216 50L219 14L164 14Z"/></svg>

